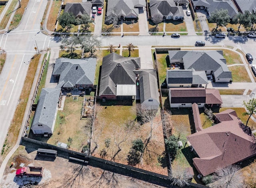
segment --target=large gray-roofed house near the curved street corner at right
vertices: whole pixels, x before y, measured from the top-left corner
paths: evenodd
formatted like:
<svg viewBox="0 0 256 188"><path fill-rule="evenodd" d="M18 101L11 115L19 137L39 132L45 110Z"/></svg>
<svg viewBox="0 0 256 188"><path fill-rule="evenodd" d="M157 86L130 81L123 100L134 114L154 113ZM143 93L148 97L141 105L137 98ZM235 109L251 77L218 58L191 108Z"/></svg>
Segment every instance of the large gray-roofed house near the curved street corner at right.
<svg viewBox="0 0 256 188"><path fill-rule="evenodd" d="M204 71L215 82L229 82L232 79L222 50L175 51L170 50L170 64L180 65L184 69Z"/></svg>

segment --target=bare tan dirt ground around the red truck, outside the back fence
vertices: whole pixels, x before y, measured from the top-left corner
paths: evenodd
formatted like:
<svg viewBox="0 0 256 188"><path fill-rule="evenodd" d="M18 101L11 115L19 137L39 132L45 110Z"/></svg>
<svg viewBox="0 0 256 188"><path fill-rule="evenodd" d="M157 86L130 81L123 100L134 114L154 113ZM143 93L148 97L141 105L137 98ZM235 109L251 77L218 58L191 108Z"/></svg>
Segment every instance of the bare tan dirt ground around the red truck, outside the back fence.
<svg viewBox="0 0 256 188"><path fill-rule="evenodd" d="M137 180L128 176L116 174L107 170L102 170L93 166L83 166L68 162L66 158L57 156L54 161L37 160L36 144L23 142L25 146L20 146L14 153L13 158L17 162L29 162L31 166L43 166L44 173L42 178L16 178L15 170L17 168L6 167L4 176L1 180L1 188L63 188L63 187L126 187L126 188L162 188L155 184ZM58 154L64 155L64 154Z"/></svg>

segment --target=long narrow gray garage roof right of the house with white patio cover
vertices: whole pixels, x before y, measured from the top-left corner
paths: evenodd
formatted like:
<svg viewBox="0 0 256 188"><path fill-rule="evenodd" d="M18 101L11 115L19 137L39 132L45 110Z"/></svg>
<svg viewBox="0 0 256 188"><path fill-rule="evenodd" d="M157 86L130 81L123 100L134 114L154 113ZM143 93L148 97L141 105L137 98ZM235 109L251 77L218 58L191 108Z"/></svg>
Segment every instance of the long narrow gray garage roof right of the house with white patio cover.
<svg viewBox="0 0 256 188"><path fill-rule="evenodd" d="M140 103L147 99L155 99L159 102L158 83L156 69L140 69L134 71L139 73L140 78Z"/></svg>

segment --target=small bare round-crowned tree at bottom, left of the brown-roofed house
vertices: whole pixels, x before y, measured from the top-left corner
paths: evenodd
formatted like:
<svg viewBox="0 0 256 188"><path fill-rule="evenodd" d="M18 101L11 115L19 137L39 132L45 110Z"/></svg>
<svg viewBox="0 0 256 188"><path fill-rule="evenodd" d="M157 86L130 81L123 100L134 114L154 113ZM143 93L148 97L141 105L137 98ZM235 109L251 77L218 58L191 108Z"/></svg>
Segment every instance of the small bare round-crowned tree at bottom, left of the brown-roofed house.
<svg viewBox="0 0 256 188"><path fill-rule="evenodd" d="M172 170L168 171L170 174L171 185L183 187L189 185L189 174L186 168L180 164L173 166Z"/></svg>

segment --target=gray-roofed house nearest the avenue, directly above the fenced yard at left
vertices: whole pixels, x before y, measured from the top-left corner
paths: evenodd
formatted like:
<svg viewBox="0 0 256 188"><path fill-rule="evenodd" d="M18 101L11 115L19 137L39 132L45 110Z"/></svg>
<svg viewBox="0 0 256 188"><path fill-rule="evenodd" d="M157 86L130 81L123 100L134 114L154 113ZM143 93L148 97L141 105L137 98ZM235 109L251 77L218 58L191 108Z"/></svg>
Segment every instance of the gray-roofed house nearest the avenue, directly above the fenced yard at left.
<svg viewBox="0 0 256 188"><path fill-rule="evenodd" d="M62 89L92 88L96 70L96 58L56 59L52 75L59 79Z"/></svg>

